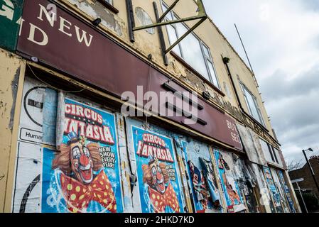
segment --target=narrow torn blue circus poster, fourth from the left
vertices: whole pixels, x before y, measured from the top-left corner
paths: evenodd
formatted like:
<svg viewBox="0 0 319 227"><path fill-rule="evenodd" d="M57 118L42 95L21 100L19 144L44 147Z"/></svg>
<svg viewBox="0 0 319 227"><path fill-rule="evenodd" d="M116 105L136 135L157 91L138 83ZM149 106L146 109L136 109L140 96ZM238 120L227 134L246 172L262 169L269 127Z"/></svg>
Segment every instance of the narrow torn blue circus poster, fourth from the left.
<svg viewBox="0 0 319 227"><path fill-rule="evenodd" d="M232 174L231 162L227 162L227 153L220 150L214 150L216 165L220 174L220 181L227 202L227 211L229 213L237 213L246 209L242 201L239 185Z"/></svg>

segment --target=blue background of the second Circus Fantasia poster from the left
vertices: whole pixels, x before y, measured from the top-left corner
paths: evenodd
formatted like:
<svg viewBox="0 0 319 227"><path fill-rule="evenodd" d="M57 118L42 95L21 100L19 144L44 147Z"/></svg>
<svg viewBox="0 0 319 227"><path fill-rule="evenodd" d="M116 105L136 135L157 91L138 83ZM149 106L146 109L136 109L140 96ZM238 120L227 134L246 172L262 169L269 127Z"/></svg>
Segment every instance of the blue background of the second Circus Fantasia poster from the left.
<svg viewBox="0 0 319 227"><path fill-rule="evenodd" d="M175 191L175 194L178 198L178 204L180 206L180 213L184 212L183 209L183 204L182 204L182 199L181 199L181 190L180 190L180 184L179 184L179 172L178 172L178 167L177 167L177 161L175 158L175 153L174 153L174 148L173 148L173 140L171 138L167 138L163 135L158 135L156 133L152 133L150 131L145 131L142 128L137 128L136 126L131 126L131 132L132 132L132 138L133 138L133 143L134 143L134 153L136 157L136 167L137 167L137 179L138 179L138 184L139 184L139 194L141 198L141 212L142 213L154 213L154 208L151 205L149 194L148 194L148 185L147 183L144 184L143 182L143 165L148 165L148 158L146 157L140 157L139 155L136 154L138 146L139 146L139 141L143 141L143 135L144 133L148 133L151 135L156 135L159 138L163 139L166 143L166 148L168 148L171 152L171 156L173 157L173 163L166 163L167 165L172 165L173 169L175 170L175 181L171 180L170 184L173 187L173 190ZM159 161L163 162L163 161ZM166 185L167 186L167 185ZM166 207L165 213L173 213L173 209L170 207Z"/></svg>

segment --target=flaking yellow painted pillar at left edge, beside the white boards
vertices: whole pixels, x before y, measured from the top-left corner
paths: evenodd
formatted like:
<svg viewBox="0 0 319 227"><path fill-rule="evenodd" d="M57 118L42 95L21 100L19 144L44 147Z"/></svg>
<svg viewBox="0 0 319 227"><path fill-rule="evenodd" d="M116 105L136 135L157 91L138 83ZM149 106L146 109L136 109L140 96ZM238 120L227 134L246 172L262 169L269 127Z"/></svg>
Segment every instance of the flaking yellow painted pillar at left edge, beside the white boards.
<svg viewBox="0 0 319 227"><path fill-rule="evenodd" d="M21 90L24 74L24 64L16 55L0 49L0 211L5 209L6 188L11 188L13 182L13 168L15 160L16 132L13 130L13 120L18 119ZM10 190L10 192L11 192ZM9 195L11 196L11 195Z"/></svg>

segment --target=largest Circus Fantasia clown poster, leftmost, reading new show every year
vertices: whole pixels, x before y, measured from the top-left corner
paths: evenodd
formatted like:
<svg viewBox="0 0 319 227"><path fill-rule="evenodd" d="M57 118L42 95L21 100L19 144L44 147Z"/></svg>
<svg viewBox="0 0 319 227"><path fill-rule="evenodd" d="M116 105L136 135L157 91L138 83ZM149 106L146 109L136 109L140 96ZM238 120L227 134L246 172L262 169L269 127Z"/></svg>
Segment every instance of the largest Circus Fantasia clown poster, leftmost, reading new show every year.
<svg viewBox="0 0 319 227"><path fill-rule="evenodd" d="M63 143L43 149L42 211L121 213L115 117L65 99Z"/></svg>

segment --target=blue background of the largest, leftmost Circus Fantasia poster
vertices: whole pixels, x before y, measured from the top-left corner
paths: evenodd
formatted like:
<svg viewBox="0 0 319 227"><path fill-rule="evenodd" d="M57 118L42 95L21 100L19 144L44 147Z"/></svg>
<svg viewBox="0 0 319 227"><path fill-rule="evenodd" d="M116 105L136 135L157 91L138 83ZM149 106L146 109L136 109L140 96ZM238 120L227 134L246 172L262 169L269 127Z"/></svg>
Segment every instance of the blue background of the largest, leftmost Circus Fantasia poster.
<svg viewBox="0 0 319 227"><path fill-rule="evenodd" d="M121 177L119 174L119 154L118 154L118 146L117 146L117 133L116 133L116 124L115 117L113 114L109 114L105 111L94 109L91 106L87 106L85 104L81 104L77 101L73 101L71 99L65 99L65 104L76 104L78 106L82 106L87 109L92 109L102 116L103 126L109 127L110 133L112 134L112 138L114 139L114 145L105 145L104 143L97 143L96 141L92 142L89 139L86 140L86 145L90 143L97 143L100 147L109 147L110 151L115 154L115 162L114 169L111 167L102 167L98 171L93 171L94 176L99 175L104 172L108 177L110 184L112 185L112 189L114 192L114 196L116 198L116 210L118 213L123 212L123 203L121 196ZM69 138L67 135L63 135L63 143L67 143ZM64 175L64 173L59 170L53 170L52 164L53 159L57 152L55 150L50 150L48 148L43 149L43 184L42 184L42 212L43 213L65 213L69 212L67 209L67 203L65 201L65 197L63 196L63 192L61 189L60 176ZM72 175L71 175L72 177ZM109 213L109 209L106 209L104 206L99 204L99 202L94 200L88 200L89 205L87 209L82 212L88 213Z"/></svg>

